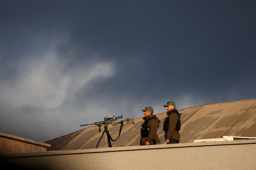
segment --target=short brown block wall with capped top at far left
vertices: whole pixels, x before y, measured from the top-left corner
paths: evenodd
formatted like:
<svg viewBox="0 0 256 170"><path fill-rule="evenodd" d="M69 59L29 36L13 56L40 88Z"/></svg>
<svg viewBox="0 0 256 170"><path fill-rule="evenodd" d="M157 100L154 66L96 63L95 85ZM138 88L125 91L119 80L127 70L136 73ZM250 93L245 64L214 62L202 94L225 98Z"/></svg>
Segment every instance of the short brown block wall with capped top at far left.
<svg viewBox="0 0 256 170"><path fill-rule="evenodd" d="M0 132L0 155L46 152L47 147L51 145Z"/></svg>

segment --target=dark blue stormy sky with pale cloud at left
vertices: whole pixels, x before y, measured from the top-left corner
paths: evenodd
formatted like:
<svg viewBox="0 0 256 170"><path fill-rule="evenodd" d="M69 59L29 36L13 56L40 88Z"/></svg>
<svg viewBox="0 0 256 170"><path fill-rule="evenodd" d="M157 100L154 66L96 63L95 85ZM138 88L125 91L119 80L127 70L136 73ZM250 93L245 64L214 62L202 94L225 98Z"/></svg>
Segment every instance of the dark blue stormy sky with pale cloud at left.
<svg viewBox="0 0 256 170"><path fill-rule="evenodd" d="M254 99L255 1L1 1L0 131Z"/></svg>

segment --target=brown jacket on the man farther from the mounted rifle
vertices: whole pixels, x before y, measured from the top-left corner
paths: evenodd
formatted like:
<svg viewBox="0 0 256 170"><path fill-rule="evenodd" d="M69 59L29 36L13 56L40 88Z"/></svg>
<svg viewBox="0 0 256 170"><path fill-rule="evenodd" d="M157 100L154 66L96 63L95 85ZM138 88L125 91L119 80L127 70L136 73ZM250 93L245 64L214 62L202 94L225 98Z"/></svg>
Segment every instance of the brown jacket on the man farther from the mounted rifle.
<svg viewBox="0 0 256 170"><path fill-rule="evenodd" d="M179 116L172 112L175 109L169 110L166 112L166 115L169 117L169 129L167 132L165 132L165 140L166 139L176 139L180 141L180 133L175 130L177 122L179 121Z"/></svg>

